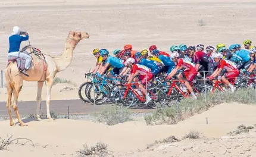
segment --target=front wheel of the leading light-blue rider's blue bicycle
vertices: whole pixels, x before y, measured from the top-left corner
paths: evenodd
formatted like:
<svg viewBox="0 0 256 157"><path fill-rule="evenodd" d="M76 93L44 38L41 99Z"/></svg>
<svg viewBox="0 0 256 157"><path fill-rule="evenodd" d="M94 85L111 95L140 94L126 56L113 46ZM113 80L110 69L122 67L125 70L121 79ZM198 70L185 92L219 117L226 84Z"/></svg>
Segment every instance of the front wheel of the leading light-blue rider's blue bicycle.
<svg viewBox="0 0 256 157"><path fill-rule="evenodd" d="M95 102L96 105L101 105L108 100L110 87L106 84L103 86L101 84L94 84L94 86L92 85L89 87L88 91L90 92L90 101L93 103Z"/></svg>

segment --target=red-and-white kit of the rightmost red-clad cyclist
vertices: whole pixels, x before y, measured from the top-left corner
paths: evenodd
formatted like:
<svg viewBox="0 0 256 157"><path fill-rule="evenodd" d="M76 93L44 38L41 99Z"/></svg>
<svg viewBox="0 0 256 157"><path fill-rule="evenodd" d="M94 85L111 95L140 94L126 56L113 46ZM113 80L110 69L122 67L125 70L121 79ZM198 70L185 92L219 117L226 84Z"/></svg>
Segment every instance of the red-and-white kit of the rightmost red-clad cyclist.
<svg viewBox="0 0 256 157"><path fill-rule="evenodd" d="M239 70L235 62L221 59L218 64L218 68L223 68L227 71L227 73L224 74L224 77L226 77L229 81L233 81L239 76Z"/></svg>

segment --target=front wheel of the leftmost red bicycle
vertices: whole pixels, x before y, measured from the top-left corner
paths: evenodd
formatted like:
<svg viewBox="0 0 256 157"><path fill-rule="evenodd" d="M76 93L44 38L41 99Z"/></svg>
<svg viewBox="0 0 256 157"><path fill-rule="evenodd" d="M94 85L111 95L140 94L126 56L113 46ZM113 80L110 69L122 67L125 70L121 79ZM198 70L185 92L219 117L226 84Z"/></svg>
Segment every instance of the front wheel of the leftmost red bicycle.
<svg viewBox="0 0 256 157"><path fill-rule="evenodd" d="M125 106L126 108L130 108L130 106L135 103L136 96L131 90L127 90L127 87L123 87L120 89L119 99L123 106Z"/></svg>

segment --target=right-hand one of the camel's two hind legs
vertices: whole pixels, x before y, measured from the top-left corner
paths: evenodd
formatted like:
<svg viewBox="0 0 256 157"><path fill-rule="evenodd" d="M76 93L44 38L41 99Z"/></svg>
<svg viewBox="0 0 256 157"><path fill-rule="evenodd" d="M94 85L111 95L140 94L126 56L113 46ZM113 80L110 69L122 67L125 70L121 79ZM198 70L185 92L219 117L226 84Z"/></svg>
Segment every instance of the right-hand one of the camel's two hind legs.
<svg viewBox="0 0 256 157"><path fill-rule="evenodd" d="M20 93L20 90L22 88L22 82L20 84L15 84L14 85L14 90L13 90L13 97L14 97L14 101L13 101L13 109L15 111L15 114L16 114L16 117L18 118L18 122L20 123L21 126L27 126L26 123L23 123L23 121L21 121L20 119L20 114L18 113L18 105L17 105L17 102L18 102L18 93Z"/></svg>

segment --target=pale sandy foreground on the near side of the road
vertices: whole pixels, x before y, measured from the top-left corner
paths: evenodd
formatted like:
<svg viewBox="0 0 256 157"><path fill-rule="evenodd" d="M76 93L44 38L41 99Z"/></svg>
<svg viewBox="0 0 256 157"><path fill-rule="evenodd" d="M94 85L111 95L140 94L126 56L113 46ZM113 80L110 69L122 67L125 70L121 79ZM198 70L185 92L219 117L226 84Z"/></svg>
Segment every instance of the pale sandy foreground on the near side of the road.
<svg viewBox="0 0 256 157"><path fill-rule="evenodd" d="M198 152L200 152L200 150L206 149L206 147L210 150L210 152L208 152L210 154L213 151L214 153L222 151L222 147L218 145L224 145L223 143L225 142L216 139L221 136L227 136L229 131L235 131L236 127L240 124L253 126L256 123L255 112L256 106L224 103L176 125L154 126L148 126L144 121L129 121L123 124L108 126L79 120L57 119L53 122L39 122L28 119L25 120L29 121L28 127L20 127L18 124L14 127L9 127L9 121L1 121L0 125L2 127L0 134L2 138L13 134L14 137L31 139L37 146L32 147L29 146L29 144L26 146L10 146L13 152L5 150L1 151L0 155L14 156L23 153L26 156L60 156L63 154L63 156L74 156L76 155L76 150L82 148L83 144L87 143L88 146L92 146L95 145L96 142L107 143L109 149L113 151L115 155L121 156L159 156L163 154L163 151L167 151L167 156L177 156L179 152L183 152L183 150L180 149L193 145L193 143L195 143L193 146L197 148L196 150L193 149L189 151L193 151L194 156L199 154ZM208 124L206 124L205 121L206 117L208 117ZM181 138L191 130L199 131L202 139L195 142L191 140L186 142L185 140L177 144L174 143L174 145L179 146L168 146L166 148L167 150L145 150L146 145L153 143L155 140L162 140L168 136ZM243 147L249 147L252 143L255 145L255 134L251 136L253 136L253 138L249 136L249 139L240 139L240 143L243 142ZM215 138L215 140L213 138ZM214 145L204 143L207 139L213 140L208 143L214 143ZM46 147L43 148L44 146ZM138 151L138 149L140 151ZM235 148L230 148L229 150L232 149ZM169 151L176 153L170 153ZM130 152L135 153L135 155ZM182 155L193 156L191 153L186 152L183 152Z"/></svg>

